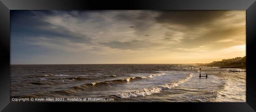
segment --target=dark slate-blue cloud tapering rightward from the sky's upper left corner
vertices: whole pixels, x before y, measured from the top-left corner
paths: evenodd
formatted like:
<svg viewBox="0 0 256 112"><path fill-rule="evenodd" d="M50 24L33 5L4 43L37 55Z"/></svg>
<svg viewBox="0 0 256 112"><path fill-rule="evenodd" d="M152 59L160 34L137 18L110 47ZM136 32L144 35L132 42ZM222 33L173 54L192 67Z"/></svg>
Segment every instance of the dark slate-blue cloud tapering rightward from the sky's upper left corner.
<svg viewBox="0 0 256 112"><path fill-rule="evenodd" d="M15 12L15 11L14 11ZM16 12L17 13L17 12ZM61 25L58 25L58 18L54 11L22 11L24 15L19 15L17 20L15 13L12 14L12 33L19 35L26 35L19 38L37 38L37 37L46 37L46 38L63 38L69 40L70 42L77 43L90 43L91 38L84 34L79 34L70 28L65 28ZM18 13L20 14L20 13ZM64 18L64 17L63 17ZM49 22L48 19L56 23ZM62 24L62 23L59 23ZM15 37L13 37L15 38Z"/></svg>

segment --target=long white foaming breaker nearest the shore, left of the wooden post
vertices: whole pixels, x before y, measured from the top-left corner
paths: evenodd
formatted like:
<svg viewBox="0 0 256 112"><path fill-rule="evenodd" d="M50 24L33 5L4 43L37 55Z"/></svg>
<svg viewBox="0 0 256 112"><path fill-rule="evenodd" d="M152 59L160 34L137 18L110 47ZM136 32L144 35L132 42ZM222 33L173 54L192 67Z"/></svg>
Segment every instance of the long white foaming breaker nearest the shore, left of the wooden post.
<svg viewBox="0 0 256 112"><path fill-rule="evenodd" d="M158 93L162 90L171 89L175 86L178 86L178 84L182 84L182 83L186 82L188 79L190 79L192 77L192 75L193 74L191 73L185 79L180 79L180 80L172 82L172 83L162 84L162 85L156 86L156 87L144 88L144 89L141 89L141 90L135 90L135 91L132 91L132 92L125 92L125 93L122 93L122 94L116 94L115 96L120 97L120 98L129 98L129 97L151 95L151 94L154 94L154 93Z"/></svg>

